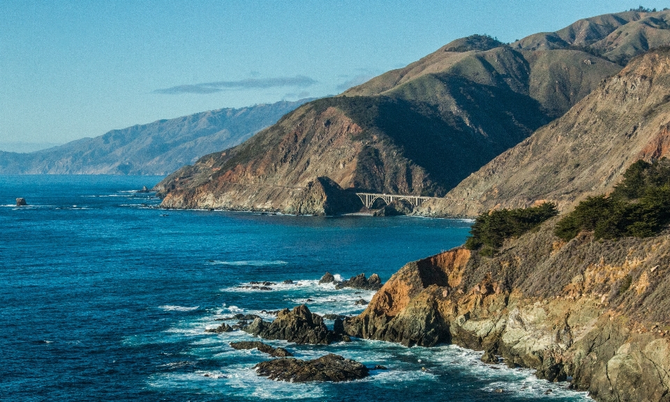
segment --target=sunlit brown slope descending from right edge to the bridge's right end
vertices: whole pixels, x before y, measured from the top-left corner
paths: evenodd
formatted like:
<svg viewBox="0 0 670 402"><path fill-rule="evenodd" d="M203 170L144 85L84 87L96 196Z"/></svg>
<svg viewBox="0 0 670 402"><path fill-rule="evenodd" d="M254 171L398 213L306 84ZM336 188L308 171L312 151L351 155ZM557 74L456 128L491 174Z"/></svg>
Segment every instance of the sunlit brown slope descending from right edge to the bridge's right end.
<svg viewBox="0 0 670 402"><path fill-rule="evenodd" d="M474 216L553 201L563 210L611 190L636 160L670 153L670 50L633 59L558 118L466 180L426 215Z"/></svg>

